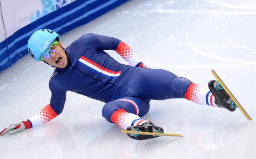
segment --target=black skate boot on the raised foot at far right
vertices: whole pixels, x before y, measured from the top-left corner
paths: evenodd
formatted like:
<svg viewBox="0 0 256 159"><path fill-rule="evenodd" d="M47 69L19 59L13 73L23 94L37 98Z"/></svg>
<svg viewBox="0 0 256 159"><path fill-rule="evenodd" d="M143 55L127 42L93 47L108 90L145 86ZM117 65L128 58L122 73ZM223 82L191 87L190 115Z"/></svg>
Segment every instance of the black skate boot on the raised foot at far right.
<svg viewBox="0 0 256 159"><path fill-rule="evenodd" d="M222 88L220 83L216 80L211 80L208 83L210 91L215 96L215 103L217 106L226 108L233 112L236 110L236 104L230 98L229 94Z"/></svg>

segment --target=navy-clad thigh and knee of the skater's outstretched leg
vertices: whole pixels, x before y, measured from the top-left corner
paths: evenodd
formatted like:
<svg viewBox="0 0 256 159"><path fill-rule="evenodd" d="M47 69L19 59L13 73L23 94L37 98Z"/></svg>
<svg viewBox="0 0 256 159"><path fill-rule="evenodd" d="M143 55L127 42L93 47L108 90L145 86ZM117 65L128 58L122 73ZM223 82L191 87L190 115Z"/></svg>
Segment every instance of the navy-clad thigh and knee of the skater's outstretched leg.
<svg viewBox="0 0 256 159"><path fill-rule="evenodd" d="M184 98L191 81L162 69L138 68L126 86L142 99Z"/></svg>

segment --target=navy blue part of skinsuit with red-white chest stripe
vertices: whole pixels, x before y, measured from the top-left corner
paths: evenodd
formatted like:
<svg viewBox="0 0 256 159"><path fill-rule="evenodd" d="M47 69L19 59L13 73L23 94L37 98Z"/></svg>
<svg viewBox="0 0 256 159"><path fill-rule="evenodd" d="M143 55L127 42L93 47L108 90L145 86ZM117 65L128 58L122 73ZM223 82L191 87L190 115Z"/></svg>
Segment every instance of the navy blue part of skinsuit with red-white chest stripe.
<svg viewBox="0 0 256 159"><path fill-rule="evenodd" d="M85 34L65 50L67 67L56 68L49 81L52 92L50 106L60 114L66 92L72 91L105 102L102 116L111 122L115 110L143 116L148 113L150 99L184 98L191 83L161 69L123 65L103 50L116 50L121 40ZM137 109L127 99L136 103Z"/></svg>

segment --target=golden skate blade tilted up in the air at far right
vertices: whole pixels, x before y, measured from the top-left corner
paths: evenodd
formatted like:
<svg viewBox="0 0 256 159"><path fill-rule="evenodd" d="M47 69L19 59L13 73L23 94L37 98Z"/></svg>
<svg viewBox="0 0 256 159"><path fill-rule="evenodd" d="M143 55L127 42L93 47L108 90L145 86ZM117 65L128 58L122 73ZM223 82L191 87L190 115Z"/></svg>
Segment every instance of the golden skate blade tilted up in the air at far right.
<svg viewBox="0 0 256 159"><path fill-rule="evenodd" d="M248 119L252 120L249 114L243 109L243 106L236 100L235 96L229 91L229 88L224 84L224 82L221 80L221 78L217 75L217 73L214 70L211 70L211 73L216 78L216 80L221 84L223 89L229 94L230 98L234 101L235 105L241 110L243 115Z"/></svg>

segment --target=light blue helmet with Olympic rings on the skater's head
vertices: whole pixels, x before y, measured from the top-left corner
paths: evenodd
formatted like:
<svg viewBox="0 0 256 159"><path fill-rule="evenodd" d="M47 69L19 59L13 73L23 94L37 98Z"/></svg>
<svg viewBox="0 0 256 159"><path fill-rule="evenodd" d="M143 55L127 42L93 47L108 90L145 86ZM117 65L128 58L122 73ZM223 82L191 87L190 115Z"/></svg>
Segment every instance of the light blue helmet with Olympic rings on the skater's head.
<svg viewBox="0 0 256 159"><path fill-rule="evenodd" d="M40 61L42 54L45 53L56 38L59 40L60 35L50 29L40 29L34 32L27 41L28 53L34 60Z"/></svg>

